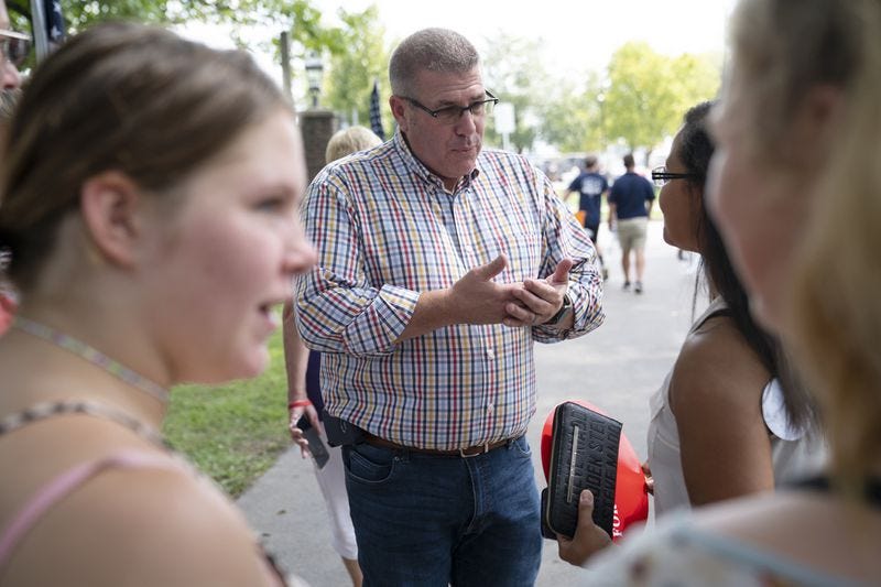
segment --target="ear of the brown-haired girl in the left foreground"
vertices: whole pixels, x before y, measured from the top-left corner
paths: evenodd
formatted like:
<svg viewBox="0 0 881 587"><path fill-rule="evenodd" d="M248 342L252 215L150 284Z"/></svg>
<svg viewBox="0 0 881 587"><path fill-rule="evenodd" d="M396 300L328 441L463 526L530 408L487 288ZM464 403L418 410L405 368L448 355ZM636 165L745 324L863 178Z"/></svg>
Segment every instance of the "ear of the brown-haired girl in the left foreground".
<svg viewBox="0 0 881 587"><path fill-rule="evenodd" d="M95 247L108 261L132 264L142 200L138 186L118 171L99 173L83 184L80 211Z"/></svg>

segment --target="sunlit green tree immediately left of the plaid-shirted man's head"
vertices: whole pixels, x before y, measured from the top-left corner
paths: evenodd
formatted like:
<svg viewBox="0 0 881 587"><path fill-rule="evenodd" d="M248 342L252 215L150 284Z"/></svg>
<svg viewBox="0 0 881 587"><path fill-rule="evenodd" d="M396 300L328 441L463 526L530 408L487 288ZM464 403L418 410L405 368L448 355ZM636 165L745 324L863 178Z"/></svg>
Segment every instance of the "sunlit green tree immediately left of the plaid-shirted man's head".
<svg viewBox="0 0 881 587"><path fill-rule="evenodd" d="M385 135L392 128L391 113L384 97L389 89L389 51L385 47L385 29L379 20L379 10L371 4L363 12L340 10L341 44L345 51L331 54L329 74L325 84L326 104L346 118L352 110L360 124L370 127L370 93L373 80L380 84L380 111Z"/></svg>

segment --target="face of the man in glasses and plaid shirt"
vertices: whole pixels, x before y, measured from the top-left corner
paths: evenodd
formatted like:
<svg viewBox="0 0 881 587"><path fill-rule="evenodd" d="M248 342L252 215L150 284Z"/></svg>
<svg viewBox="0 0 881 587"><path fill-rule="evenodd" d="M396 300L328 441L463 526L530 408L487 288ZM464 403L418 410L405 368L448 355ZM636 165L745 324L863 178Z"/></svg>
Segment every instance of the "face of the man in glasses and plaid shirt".
<svg viewBox="0 0 881 587"><path fill-rule="evenodd" d="M429 110L466 107L487 99L480 69L467 73L422 72L416 96L407 96ZM474 171L483 143L486 115L466 111L454 123L445 123L400 96L391 98L392 112L406 135L413 154L452 189Z"/></svg>

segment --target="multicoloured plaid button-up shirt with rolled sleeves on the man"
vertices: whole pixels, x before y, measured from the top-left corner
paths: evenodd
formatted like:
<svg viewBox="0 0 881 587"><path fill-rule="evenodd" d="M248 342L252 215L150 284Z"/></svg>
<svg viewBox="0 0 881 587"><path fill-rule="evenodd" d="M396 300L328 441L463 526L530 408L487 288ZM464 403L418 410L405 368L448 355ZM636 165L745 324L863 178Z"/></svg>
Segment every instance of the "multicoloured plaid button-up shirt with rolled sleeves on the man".
<svg viewBox="0 0 881 587"><path fill-rule="evenodd" d="M523 434L535 412L533 341L602 323L594 246L522 156L485 150L449 193L399 131L325 167L303 210L318 263L295 281L300 333L323 352L328 412L382 438L456 449ZM420 292L450 287L500 253L501 283L574 260L570 329L460 324L394 343Z"/></svg>

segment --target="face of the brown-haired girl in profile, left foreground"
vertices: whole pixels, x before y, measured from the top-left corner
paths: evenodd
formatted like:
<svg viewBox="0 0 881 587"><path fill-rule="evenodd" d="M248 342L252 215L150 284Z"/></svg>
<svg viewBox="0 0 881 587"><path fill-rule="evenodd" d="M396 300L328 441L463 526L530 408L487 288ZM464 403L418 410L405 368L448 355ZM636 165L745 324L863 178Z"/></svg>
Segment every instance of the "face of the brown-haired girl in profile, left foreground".
<svg viewBox="0 0 881 587"><path fill-rule="evenodd" d="M172 381L253 377L269 361L275 306L316 260L298 217L306 170L300 134L279 110L156 206L143 257L144 320ZM164 210L164 211L163 211Z"/></svg>

